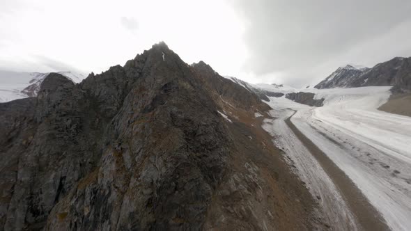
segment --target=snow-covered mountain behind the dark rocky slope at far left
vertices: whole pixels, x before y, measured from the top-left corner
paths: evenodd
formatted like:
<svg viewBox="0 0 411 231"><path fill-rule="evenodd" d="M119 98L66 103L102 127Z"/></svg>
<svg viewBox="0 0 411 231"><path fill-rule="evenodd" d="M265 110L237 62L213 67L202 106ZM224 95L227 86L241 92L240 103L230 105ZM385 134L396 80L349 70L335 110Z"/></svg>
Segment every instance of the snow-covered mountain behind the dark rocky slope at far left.
<svg viewBox="0 0 411 231"><path fill-rule="evenodd" d="M75 83L84 78L83 74L74 72L58 72ZM39 72L10 72L0 70L0 102L14 99L35 97L40 90L40 84L49 73Z"/></svg>

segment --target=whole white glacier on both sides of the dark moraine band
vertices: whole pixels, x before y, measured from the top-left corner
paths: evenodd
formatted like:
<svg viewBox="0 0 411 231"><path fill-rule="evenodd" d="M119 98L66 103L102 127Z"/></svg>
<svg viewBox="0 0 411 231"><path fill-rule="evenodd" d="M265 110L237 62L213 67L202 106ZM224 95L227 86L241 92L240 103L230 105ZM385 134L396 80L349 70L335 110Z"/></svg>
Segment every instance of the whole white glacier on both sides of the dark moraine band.
<svg viewBox="0 0 411 231"><path fill-rule="evenodd" d="M322 107L270 97L268 104L277 119L265 121L263 127L295 162L313 196L321 191L322 197L333 200L335 194L334 206L350 214L332 181L327 180L309 151L287 129L284 120L296 111L290 119L293 125L346 173L389 228L411 230L411 118L377 110L387 102L389 88L299 90L316 94L315 99L324 98ZM332 213L332 205L326 203L323 202L323 209Z"/></svg>

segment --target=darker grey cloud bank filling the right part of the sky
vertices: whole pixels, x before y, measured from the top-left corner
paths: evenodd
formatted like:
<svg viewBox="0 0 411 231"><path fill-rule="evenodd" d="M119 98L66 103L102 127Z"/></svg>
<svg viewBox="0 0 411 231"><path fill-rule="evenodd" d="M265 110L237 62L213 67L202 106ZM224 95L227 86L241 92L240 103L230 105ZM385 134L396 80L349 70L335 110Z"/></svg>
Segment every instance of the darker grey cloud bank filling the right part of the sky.
<svg viewBox="0 0 411 231"><path fill-rule="evenodd" d="M284 83L303 86L319 74L344 63L375 64L392 58L398 42L408 49L408 38L395 35L411 22L411 1L231 1L247 22L245 42L250 52L246 70L257 75L281 72ZM391 35L389 35L391 33ZM394 34L392 34L394 33ZM388 35L387 35L388 34ZM382 37L369 54L358 54L367 42ZM366 46L367 47L367 46ZM399 48L401 50L401 47ZM403 53L403 52L401 52ZM378 60L380 59L380 60ZM344 63L343 63L344 62ZM335 65L333 67L333 65Z"/></svg>

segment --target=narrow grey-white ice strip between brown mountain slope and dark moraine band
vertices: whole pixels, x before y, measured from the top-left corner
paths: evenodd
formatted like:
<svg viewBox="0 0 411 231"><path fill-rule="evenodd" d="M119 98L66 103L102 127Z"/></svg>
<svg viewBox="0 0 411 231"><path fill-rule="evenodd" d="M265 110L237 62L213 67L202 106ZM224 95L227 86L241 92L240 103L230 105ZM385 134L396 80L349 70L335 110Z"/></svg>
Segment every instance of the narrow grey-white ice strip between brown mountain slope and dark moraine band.
<svg viewBox="0 0 411 231"><path fill-rule="evenodd" d="M295 108L302 105L284 97L277 99L279 99L280 104L283 100L288 101L284 105L288 103L295 104ZM302 182L307 184L313 198L316 198L320 203L320 209L323 209L323 211L318 212L318 216L324 214L325 217L321 218L329 225L336 225L336 227L334 226L336 230L359 230L354 222L355 219L352 212L348 209L346 202L332 180L321 168L318 161L309 154L309 150L304 147L295 134L293 134L293 131L286 125L286 118L292 116L294 111L288 108L278 108L270 113L271 116L277 119L265 119L263 129L275 138L275 144L281 150L284 150L288 164L295 166L297 175Z"/></svg>

